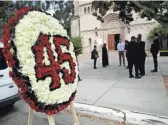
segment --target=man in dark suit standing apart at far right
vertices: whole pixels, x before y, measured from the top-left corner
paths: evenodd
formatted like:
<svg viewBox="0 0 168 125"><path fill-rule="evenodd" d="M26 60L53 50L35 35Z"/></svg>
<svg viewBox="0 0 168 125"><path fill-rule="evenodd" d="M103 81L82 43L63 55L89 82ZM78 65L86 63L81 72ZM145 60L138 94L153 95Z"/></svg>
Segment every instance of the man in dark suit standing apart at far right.
<svg viewBox="0 0 168 125"><path fill-rule="evenodd" d="M158 71L158 61L157 61L157 54L159 52L159 35L158 33L154 33L154 40L153 44L151 45L150 52L152 53L153 56L153 62L154 62L154 70L151 72L157 72Z"/></svg>

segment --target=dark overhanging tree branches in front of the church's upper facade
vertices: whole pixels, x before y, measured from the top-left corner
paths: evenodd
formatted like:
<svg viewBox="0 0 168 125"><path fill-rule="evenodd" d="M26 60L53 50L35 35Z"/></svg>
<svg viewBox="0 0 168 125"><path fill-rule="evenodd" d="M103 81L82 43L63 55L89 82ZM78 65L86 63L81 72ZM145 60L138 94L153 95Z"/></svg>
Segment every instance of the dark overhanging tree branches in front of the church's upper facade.
<svg viewBox="0 0 168 125"><path fill-rule="evenodd" d="M141 18L155 19L158 23L168 27L168 1L93 1L93 13L98 20L103 22L107 11L119 12L119 18L129 24L133 21L132 10L138 12Z"/></svg>

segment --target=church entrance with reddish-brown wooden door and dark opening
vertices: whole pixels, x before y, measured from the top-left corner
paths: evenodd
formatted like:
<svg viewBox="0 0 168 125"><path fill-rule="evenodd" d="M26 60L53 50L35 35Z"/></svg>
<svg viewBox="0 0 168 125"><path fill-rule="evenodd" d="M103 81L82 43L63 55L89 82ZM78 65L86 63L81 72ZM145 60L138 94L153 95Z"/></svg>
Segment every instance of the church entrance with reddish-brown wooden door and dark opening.
<svg viewBox="0 0 168 125"><path fill-rule="evenodd" d="M120 40L120 34L108 34L108 50L117 50L117 44Z"/></svg>

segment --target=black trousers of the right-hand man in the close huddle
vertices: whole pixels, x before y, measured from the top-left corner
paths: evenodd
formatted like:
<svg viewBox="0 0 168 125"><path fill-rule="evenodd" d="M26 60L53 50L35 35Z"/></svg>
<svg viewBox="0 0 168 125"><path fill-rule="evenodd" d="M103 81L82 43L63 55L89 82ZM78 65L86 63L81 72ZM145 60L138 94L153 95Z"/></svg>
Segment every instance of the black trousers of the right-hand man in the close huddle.
<svg viewBox="0 0 168 125"><path fill-rule="evenodd" d="M146 60L146 57L142 57L138 62L138 69L141 75L145 74L145 60Z"/></svg>

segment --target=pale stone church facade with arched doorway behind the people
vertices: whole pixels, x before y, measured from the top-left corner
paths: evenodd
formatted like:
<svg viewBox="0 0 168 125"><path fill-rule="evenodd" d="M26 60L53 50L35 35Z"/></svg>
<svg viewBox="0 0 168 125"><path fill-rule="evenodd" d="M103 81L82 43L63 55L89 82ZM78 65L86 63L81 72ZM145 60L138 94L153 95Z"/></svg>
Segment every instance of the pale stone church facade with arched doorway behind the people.
<svg viewBox="0 0 168 125"><path fill-rule="evenodd" d="M127 26L120 21L118 13L113 10L107 12L104 23L101 23L92 15L94 9L91 1L74 1L74 11L71 35L82 37L83 53L90 52L94 45L100 48L103 43L107 43L109 51L115 50L119 39L130 41L131 36L137 36L139 33L142 34L142 40L146 42L146 50L149 50L151 42L147 40L148 33L158 25L155 20L147 21L133 13L134 21Z"/></svg>

